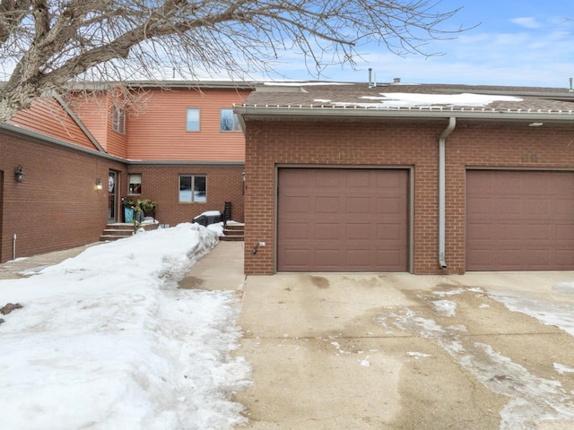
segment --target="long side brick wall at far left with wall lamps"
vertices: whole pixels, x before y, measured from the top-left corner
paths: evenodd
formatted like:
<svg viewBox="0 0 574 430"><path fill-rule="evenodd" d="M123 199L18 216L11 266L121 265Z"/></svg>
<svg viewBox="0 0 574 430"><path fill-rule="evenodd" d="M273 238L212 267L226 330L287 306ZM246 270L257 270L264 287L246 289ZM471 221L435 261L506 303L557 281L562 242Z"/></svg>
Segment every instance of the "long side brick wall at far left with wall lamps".
<svg viewBox="0 0 574 430"><path fill-rule="evenodd" d="M3 172L0 211L0 262L97 242L108 221L110 168L121 163L49 143L0 133ZM24 180L13 171L22 165ZM100 178L104 190L95 188Z"/></svg>

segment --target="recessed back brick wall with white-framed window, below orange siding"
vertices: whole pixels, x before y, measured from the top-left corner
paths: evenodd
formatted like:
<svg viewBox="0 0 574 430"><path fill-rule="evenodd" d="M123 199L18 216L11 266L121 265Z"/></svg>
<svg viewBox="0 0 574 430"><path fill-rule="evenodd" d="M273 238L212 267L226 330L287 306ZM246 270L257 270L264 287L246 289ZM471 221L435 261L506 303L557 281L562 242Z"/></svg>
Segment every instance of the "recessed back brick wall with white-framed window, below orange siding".
<svg viewBox="0 0 574 430"><path fill-rule="evenodd" d="M129 173L142 175L142 194L131 195L158 202L156 218L175 226L191 222L204 211L223 211L231 202L233 220L243 222L243 166L130 166ZM206 175L206 202L178 202L179 175ZM121 192L127 196L127 184Z"/></svg>

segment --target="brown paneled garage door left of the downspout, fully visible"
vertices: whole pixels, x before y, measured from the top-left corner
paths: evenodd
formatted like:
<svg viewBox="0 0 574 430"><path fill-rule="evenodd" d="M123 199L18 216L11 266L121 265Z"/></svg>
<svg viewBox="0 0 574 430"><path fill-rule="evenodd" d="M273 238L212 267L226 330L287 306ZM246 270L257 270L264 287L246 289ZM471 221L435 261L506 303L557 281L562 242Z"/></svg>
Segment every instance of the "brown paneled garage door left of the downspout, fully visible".
<svg viewBox="0 0 574 430"><path fill-rule="evenodd" d="M281 168L279 271L407 271L408 170Z"/></svg>

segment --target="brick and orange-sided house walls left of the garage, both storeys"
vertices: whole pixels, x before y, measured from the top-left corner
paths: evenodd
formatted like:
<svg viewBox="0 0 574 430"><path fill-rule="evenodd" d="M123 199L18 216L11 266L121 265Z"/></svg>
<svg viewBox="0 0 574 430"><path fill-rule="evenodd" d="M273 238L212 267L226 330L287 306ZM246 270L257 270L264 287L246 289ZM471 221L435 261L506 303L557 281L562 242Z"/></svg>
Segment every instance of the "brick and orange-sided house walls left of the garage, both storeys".
<svg viewBox="0 0 574 430"><path fill-rule="evenodd" d="M128 196L129 173L141 174L143 187L142 194L130 197L157 202L161 224L191 222L204 211L222 211L225 202L231 202L233 220L244 220L243 134L222 131L220 113L245 99L251 87L233 82L211 83L204 90L186 82L170 86L148 88L154 98L145 101L139 116L127 115L126 133L112 131L107 96L78 99L73 108L79 121L52 100L3 125L0 262L13 258L14 235L16 257L100 240L109 222L109 171L116 174L114 222L124 220L121 198ZM200 133L186 132L187 107L201 108ZM13 174L19 165L22 183ZM179 175L206 176L206 202L178 202ZM98 178L102 190L96 190Z"/></svg>

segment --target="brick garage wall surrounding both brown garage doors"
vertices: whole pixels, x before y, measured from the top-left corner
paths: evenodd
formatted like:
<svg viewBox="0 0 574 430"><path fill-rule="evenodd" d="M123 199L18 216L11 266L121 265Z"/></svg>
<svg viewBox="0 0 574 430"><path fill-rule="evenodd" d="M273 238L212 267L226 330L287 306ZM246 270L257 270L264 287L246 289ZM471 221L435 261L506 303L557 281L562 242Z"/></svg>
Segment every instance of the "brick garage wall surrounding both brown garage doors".
<svg viewBox="0 0 574 430"><path fill-rule="evenodd" d="M435 122L258 122L246 132L247 274L274 272L277 165L413 167L413 271L465 271L465 168L574 168L571 128L459 121L447 140L446 258L438 263L438 141ZM251 249L266 242L257 254Z"/></svg>

